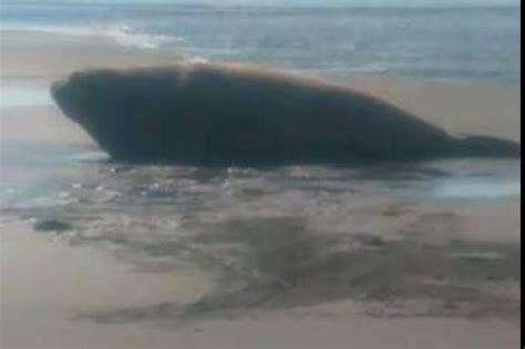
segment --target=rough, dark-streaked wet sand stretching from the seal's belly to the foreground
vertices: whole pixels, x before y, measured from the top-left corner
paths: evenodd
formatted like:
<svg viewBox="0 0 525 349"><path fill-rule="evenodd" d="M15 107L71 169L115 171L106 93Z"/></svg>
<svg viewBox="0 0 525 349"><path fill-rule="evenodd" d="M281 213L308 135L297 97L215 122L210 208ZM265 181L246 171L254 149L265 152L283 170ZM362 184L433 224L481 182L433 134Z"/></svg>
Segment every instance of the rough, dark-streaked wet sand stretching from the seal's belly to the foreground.
<svg viewBox="0 0 525 349"><path fill-rule="evenodd" d="M369 167L101 163L66 204L6 213L58 219L71 227L61 236L72 246L111 248L137 271L214 275L212 290L193 302L78 309L80 320L185 321L341 300L368 316L516 319L519 298L498 285L519 283L519 246L469 235L486 202L466 211L432 203L419 183L454 173L394 170L375 179ZM473 218L469 209L480 204Z"/></svg>

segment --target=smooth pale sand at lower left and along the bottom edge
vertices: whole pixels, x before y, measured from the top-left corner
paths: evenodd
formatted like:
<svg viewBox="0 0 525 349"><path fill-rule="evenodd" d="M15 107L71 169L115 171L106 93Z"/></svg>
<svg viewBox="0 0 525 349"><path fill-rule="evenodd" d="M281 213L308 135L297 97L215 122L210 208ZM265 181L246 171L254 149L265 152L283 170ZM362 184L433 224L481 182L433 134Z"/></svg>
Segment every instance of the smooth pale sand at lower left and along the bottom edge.
<svg viewBox="0 0 525 349"><path fill-rule="evenodd" d="M188 301L209 284L199 273L133 271L100 247L70 247L20 225L2 233L2 348L515 348L518 341L518 325L504 319L367 316L350 300L184 324L155 311L151 317L163 322L80 319L82 310Z"/></svg>

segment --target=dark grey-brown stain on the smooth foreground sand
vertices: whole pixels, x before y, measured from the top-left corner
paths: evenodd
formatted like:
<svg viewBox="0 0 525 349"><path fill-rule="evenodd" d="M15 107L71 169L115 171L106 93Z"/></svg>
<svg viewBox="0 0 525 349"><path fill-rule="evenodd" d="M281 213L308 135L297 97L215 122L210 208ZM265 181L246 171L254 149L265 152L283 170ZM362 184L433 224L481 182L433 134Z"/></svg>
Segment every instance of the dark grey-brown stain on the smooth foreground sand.
<svg viewBox="0 0 525 349"><path fill-rule="evenodd" d="M217 285L194 304L85 314L96 321L220 317L250 308L296 308L343 299L384 302L382 311L390 316L518 316L518 300L478 289L487 281L519 279L519 249L512 245L453 240L443 247L419 246L411 238L384 242L313 233L291 217L228 220L185 244L113 243L148 257L173 258L174 266L186 253L192 263L217 271ZM410 300L431 306L418 309L406 302L403 309ZM388 309L392 302L397 309ZM381 315L373 308L367 314Z"/></svg>

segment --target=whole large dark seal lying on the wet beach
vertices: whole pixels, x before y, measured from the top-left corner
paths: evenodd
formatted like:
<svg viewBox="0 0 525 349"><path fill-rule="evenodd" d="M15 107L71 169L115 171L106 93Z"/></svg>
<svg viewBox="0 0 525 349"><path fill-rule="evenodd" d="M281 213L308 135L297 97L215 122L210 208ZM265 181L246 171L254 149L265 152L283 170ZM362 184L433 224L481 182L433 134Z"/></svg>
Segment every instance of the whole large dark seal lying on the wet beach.
<svg viewBox="0 0 525 349"><path fill-rule="evenodd" d="M364 93L235 64L86 70L53 83L51 93L125 162L341 164L521 154L517 143L456 138Z"/></svg>

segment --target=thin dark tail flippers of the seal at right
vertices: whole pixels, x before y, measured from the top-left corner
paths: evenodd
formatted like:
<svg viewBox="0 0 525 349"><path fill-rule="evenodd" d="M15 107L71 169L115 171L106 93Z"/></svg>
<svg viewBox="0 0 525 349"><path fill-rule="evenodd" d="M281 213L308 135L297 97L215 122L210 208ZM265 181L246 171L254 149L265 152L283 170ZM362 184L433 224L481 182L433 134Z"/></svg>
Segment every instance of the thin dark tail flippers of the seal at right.
<svg viewBox="0 0 525 349"><path fill-rule="evenodd" d="M519 143L492 136L473 135L454 141L454 155L484 157L521 157Z"/></svg>

